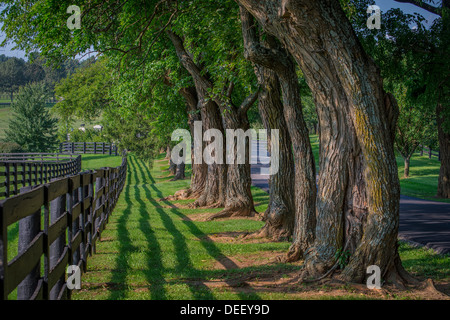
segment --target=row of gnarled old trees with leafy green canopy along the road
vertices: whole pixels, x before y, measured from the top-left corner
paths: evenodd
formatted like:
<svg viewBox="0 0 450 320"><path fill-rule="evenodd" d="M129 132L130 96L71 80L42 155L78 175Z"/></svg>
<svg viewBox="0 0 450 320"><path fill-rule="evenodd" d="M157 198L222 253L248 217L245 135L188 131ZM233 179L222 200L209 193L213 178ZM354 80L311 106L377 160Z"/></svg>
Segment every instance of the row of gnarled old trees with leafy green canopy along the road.
<svg viewBox="0 0 450 320"><path fill-rule="evenodd" d="M204 131L224 133L248 129L256 103L264 126L280 130L280 165L270 178L265 226L255 236L292 241L286 259L303 259L305 276L329 274L346 252L339 273L345 281L363 282L369 265L379 266L387 281L413 281L397 251L399 107L389 89L406 88L411 106L432 101L447 135L448 74L439 67L448 66L446 1L436 9L442 19L434 29L420 27L418 16L392 11L381 31L364 26L369 1L236 2L80 1L82 28L72 32L65 28L71 1L6 1L1 21L25 50L38 46L43 55L64 59L93 48L107 56L118 75L112 93L119 121L150 113L166 132L184 113L191 130L201 120ZM411 19L420 32L409 27ZM58 32L47 32L55 26ZM398 68L389 69L391 62ZM302 108L308 91L320 124L318 172ZM448 135L442 141L442 167L448 168ZM250 184L248 162L193 164L190 188L175 197L224 208L211 219L250 216Z"/></svg>

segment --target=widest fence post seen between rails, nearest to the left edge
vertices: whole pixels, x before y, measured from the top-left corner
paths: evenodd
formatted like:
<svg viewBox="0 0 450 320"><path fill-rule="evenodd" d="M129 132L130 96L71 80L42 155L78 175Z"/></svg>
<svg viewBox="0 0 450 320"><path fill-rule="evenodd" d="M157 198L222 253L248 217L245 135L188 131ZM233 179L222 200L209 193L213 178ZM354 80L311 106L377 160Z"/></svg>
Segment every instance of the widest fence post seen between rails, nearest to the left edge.
<svg viewBox="0 0 450 320"><path fill-rule="evenodd" d="M20 192L30 191L32 187L24 187ZM19 254L33 241L41 229L41 210L19 221ZM17 286L17 300L29 300L38 285L40 277L40 262Z"/></svg>

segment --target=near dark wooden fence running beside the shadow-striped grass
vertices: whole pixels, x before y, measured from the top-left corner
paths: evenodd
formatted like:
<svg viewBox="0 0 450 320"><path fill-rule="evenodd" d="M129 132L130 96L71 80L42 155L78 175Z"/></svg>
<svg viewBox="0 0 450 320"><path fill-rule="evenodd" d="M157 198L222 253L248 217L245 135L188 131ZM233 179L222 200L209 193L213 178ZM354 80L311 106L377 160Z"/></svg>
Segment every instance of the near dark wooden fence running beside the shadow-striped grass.
<svg viewBox="0 0 450 320"><path fill-rule="evenodd" d="M0 299L70 299L66 270L86 270L125 184L116 168L59 178L0 202ZM8 227L19 223L19 252L8 261ZM22 232L21 228L25 232ZM11 244L10 244L11 245ZM42 259L43 258L43 259ZM41 262L43 261L43 263Z"/></svg>

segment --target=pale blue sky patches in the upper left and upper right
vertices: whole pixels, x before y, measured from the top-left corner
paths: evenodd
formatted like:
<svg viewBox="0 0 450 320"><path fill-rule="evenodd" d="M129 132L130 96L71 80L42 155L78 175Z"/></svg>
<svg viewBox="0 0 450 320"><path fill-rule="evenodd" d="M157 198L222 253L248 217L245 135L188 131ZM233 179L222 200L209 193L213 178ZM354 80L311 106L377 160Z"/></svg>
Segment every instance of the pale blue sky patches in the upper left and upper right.
<svg viewBox="0 0 450 320"><path fill-rule="evenodd" d="M395 2L394 0L375 0L375 3L377 6L380 7L382 12L388 11L389 9L392 9L392 8L400 8L405 13L410 13L410 14L413 14L415 12L420 13L430 24L434 19L436 19L438 17L435 14L432 14L426 10L423 10L419 7L416 7L416 6L414 6L412 4L408 4L408 3L399 3L399 2ZM0 10L1 9L2 8L0 7ZM1 26L2 25L0 24L0 29L1 29ZM0 30L0 43L4 39L5 39L5 34ZM14 47L14 44L9 44L3 48L0 47L0 54L26 59L25 53L23 51L13 50L12 49L13 47Z"/></svg>

